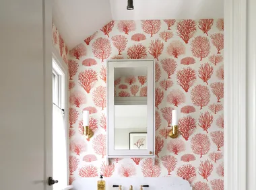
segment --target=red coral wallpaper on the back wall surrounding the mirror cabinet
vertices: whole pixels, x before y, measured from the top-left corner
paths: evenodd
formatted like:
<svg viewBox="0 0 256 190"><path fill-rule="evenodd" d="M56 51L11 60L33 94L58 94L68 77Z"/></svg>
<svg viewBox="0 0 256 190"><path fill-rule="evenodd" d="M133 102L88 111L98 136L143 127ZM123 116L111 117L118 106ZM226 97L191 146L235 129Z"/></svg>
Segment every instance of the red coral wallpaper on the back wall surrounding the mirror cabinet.
<svg viewBox="0 0 256 190"><path fill-rule="evenodd" d="M70 183L82 177L187 179L195 190L224 189L223 19L111 21L70 50ZM115 158L106 165L106 60L156 60L156 162ZM137 77L133 79L141 83ZM123 91L133 83L116 81ZM127 89L126 89L127 87ZM139 89L141 91L141 89ZM137 92L139 95L139 92ZM94 137L86 140L82 111ZM171 110L181 136L170 139Z"/></svg>

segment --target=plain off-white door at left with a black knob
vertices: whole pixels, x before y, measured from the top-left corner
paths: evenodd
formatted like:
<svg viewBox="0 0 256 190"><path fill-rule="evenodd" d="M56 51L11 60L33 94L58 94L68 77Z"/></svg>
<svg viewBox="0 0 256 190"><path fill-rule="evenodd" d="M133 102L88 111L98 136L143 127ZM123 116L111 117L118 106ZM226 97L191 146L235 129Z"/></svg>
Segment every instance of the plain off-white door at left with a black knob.
<svg viewBox="0 0 256 190"><path fill-rule="evenodd" d="M1 1L1 189L44 189L49 156L44 130L51 128L52 109L51 24L49 0Z"/></svg>

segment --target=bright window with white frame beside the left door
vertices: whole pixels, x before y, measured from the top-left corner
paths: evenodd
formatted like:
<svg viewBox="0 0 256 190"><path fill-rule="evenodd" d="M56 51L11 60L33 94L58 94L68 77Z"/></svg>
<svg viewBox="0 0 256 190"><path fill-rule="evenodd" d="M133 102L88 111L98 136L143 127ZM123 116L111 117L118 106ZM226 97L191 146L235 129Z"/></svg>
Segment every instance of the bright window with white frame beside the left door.
<svg viewBox="0 0 256 190"><path fill-rule="evenodd" d="M53 190L63 190L68 185L66 77L61 64L53 58L53 179L59 181Z"/></svg>

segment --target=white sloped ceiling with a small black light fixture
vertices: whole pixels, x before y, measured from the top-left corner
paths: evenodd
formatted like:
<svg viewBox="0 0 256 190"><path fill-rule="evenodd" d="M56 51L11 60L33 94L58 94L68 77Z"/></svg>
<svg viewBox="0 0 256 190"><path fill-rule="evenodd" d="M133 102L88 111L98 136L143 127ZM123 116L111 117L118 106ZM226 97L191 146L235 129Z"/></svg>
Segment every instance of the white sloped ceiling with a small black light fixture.
<svg viewBox="0 0 256 190"><path fill-rule="evenodd" d="M53 22L69 48L111 20L224 17L224 0L54 0Z"/></svg>

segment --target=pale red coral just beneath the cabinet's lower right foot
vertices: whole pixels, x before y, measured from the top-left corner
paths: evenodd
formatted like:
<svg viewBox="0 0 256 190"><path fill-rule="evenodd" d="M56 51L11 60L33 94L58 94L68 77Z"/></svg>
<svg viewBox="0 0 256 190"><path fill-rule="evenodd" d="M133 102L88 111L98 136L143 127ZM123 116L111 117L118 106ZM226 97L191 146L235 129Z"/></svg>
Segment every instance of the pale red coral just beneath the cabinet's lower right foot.
<svg viewBox="0 0 256 190"><path fill-rule="evenodd" d="M161 166L158 160L146 158L141 165L143 177L159 177L161 174Z"/></svg>

